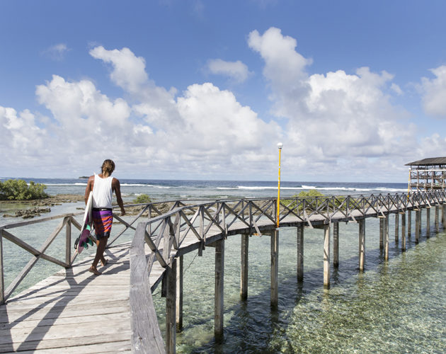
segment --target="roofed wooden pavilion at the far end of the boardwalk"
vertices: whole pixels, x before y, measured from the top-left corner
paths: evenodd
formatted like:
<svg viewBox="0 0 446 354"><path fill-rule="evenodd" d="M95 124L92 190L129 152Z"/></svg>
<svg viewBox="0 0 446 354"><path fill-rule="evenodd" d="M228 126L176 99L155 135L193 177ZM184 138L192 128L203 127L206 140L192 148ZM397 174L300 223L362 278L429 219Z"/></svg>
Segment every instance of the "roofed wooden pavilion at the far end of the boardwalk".
<svg viewBox="0 0 446 354"><path fill-rule="evenodd" d="M446 157L430 157L406 166L410 166L408 190L445 190Z"/></svg>

